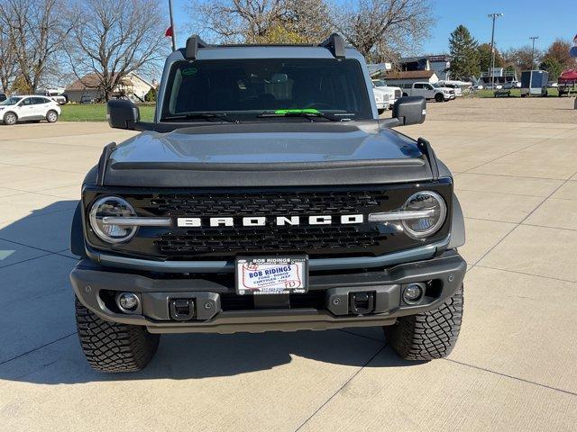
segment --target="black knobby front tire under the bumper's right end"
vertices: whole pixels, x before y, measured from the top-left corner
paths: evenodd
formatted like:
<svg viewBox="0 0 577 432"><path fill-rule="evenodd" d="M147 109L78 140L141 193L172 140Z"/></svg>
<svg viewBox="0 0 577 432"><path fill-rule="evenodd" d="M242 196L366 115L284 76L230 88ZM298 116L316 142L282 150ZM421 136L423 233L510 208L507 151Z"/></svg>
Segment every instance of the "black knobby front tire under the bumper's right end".
<svg viewBox="0 0 577 432"><path fill-rule="evenodd" d="M435 311L401 317L385 336L405 360L433 360L451 354L463 320L463 286Z"/></svg>

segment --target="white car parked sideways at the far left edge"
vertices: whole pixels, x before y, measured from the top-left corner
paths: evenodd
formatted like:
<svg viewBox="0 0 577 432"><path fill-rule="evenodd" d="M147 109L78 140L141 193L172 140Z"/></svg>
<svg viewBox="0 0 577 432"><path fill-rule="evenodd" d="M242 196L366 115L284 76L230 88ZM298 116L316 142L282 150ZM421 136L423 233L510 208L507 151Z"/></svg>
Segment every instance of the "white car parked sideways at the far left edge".
<svg viewBox="0 0 577 432"><path fill-rule="evenodd" d="M0 122L8 125L41 120L55 123L61 112L59 103L46 96L12 96L0 103Z"/></svg>

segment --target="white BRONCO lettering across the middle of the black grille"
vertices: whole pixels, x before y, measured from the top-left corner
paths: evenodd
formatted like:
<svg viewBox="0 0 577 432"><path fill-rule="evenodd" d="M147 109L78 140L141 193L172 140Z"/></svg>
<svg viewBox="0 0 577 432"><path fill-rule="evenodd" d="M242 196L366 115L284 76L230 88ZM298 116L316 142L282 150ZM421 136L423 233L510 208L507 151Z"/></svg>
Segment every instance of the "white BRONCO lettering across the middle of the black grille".
<svg viewBox="0 0 577 432"><path fill-rule="evenodd" d="M318 226L318 225L358 225L364 222L362 214L344 214L342 216L279 216L267 218L264 216L249 216L244 218L178 218L179 228L202 227L277 227Z"/></svg>

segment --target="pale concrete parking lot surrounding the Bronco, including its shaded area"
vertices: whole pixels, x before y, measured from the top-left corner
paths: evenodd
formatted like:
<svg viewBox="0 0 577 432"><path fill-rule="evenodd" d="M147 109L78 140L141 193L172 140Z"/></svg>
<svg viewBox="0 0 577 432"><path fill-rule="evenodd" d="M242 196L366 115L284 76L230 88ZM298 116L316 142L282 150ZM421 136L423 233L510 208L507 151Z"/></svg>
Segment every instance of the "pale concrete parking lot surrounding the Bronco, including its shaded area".
<svg viewBox="0 0 577 432"><path fill-rule="evenodd" d="M577 118L431 111L403 131L455 173L470 266L459 343L427 364L358 329L169 336L142 373L92 372L69 222L101 148L132 133L0 127L0 430L577 430Z"/></svg>

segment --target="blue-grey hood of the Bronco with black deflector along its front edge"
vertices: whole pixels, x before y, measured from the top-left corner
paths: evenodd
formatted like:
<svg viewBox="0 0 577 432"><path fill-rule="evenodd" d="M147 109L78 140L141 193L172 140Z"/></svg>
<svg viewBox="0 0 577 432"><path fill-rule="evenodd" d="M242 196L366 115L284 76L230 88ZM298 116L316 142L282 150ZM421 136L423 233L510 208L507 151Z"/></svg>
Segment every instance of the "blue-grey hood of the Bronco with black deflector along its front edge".
<svg viewBox="0 0 577 432"><path fill-rule="evenodd" d="M143 132L112 152L105 184L210 187L431 178L416 141L379 121L214 124Z"/></svg>

